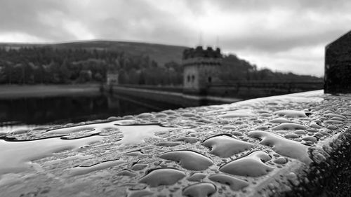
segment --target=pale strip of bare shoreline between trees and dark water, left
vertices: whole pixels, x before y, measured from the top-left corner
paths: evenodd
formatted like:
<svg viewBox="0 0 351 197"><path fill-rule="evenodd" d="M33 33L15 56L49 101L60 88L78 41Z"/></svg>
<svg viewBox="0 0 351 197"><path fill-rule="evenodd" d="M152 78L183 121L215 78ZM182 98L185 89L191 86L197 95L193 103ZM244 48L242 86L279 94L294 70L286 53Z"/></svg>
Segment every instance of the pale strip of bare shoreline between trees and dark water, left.
<svg viewBox="0 0 351 197"><path fill-rule="evenodd" d="M100 93L99 83L87 84L36 84L36 85L1 85L0 99L23 97L52 97L60 95L96 95Z"/></svg>

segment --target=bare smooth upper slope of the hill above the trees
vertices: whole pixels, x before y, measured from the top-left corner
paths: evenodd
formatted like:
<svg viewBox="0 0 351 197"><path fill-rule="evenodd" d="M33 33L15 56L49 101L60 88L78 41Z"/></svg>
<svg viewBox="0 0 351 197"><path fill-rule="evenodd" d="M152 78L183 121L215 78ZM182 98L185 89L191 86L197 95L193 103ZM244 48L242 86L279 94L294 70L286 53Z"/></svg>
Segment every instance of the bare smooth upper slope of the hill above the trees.
<svg viewBox="0 0 351 197"><path fill-rule="evenodd" d="M166 62L177 62L182 60L185 46L171 46L155 43L137 43L127 41L74 41L67 43L0 43L0 48L22 48L32 46L51 46L53 48L85 48L87 50L113 50L118 52L129 53L130 55L148 55L155 60L160 66Z"/></svg>

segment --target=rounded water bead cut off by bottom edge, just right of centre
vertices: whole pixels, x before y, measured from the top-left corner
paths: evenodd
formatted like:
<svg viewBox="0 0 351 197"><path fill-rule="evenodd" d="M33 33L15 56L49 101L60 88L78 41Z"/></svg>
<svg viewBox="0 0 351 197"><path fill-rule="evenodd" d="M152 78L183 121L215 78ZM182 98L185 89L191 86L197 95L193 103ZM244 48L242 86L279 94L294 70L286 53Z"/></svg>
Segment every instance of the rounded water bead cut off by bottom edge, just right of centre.
<svg viewBox="0 0 351 197"><path fill-rule="evenodd" d="M183 196L189 197L211 196L213 193L216 193L216 186L208 182L192 184L183 189Z"/></svg>

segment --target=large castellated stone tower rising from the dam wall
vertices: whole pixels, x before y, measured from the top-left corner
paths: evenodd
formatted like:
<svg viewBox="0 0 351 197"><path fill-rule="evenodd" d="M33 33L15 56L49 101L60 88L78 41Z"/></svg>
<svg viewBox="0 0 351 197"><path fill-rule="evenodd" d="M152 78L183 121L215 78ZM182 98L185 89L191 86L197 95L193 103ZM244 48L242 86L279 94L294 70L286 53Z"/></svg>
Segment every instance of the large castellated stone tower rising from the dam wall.
<svg viewBox="0 0 351 197"><path fill-rule="evenodd" d="M183 92L206 95L211 83L218 80L218 70L222 62L220 48L213 50L202 46L185 49L183 52Z"/></svg>

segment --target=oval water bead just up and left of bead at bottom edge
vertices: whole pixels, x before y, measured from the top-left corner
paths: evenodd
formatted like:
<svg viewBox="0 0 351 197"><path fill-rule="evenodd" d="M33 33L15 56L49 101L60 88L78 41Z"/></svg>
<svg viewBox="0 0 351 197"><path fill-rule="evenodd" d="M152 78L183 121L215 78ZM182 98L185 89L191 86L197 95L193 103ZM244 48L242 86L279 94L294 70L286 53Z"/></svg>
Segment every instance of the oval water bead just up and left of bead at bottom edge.
<svg viewBox="0 0 351 197"><path fill-rule="evenodd" d="M139 182L149 186L171 185L184 177L185 173L175 168L157 168L147 172Z"/></svg>

